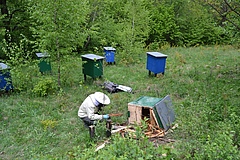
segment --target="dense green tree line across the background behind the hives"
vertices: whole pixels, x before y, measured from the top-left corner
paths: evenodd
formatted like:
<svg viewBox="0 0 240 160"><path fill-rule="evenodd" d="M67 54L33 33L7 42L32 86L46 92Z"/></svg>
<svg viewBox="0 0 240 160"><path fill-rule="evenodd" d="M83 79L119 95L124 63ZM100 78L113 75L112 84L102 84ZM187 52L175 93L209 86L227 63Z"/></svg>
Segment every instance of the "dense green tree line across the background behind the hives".
<svg viewBox="0 0 240 160"><path fill-rule="evenodd" d="M124 63L132 63L129 54L137 54L132 47L239 46L237 1L4 2L0 23L1 37L7 45L21 43L24 35L33 42L24 46L25 51L48 51L59 61L72 51L102 54L104 46L118 47ZM0 57L5 59L5 53L0 51ZM60 68L59 62L59 72Z"/></svg>

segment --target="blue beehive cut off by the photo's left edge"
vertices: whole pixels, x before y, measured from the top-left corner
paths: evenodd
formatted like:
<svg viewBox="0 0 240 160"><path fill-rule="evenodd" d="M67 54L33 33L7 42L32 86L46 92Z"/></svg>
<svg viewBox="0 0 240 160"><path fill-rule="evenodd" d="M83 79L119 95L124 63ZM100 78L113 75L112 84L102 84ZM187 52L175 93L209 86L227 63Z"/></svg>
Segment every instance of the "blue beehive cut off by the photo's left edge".
<svg viewBox="0 0 240 160"><path fill-rule="evenodd" d="M10 67L0 63L0 91L13 90Z"/></svg>

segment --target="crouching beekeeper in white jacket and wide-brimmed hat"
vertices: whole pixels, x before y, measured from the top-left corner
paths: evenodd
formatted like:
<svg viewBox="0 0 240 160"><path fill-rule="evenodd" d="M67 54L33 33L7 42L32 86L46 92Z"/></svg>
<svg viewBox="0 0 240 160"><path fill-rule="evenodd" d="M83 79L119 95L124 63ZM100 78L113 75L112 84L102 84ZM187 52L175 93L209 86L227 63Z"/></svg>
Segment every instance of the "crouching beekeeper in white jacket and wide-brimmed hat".
<svg viewBox="0 0 240 160"><path fill-rule="evenodd" d="M96 124L97 120L108 119L108 114L99 114L102 107L108 104L110 104L110 99L106 94L102 92L90 94L79 107L78 117L80 117L86 127Z"/></svg>

